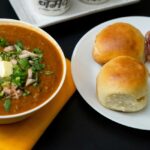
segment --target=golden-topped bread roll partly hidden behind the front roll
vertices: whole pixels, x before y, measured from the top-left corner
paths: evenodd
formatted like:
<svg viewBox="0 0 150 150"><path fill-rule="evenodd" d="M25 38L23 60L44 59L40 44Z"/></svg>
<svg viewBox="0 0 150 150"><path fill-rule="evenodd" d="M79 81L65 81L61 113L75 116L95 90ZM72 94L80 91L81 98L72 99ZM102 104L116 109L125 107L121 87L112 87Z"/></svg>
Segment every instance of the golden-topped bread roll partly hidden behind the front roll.
<svg viewBox="0 0 150 150"><path fill-rule="evenodd" d="M131 56L144 61L144 36L128 23L114 23L97 34L93 58L104 64L117 56Z"/></svg>

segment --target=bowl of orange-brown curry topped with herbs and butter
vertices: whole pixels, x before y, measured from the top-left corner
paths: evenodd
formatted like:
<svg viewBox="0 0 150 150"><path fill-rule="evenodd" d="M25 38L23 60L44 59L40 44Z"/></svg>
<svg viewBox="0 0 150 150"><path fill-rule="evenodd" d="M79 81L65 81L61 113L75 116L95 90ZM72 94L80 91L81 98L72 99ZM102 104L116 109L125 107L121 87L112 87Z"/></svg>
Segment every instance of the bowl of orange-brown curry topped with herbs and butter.
<svg viewBox="0 0 150 150"><path fill-rule="evenodd" d="M22 120L45 106L65 76L63 51L48 33L0 19L0 124Z"/></svg>

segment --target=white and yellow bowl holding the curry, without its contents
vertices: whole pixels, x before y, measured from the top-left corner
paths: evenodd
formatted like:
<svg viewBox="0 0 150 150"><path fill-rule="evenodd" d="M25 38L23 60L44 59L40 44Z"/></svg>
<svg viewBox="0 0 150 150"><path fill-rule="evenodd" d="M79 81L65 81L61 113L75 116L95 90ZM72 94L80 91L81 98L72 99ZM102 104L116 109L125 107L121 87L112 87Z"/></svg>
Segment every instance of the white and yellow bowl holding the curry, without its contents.
<svg viewBox="0 0 150 150"><path fill-rule="evenodd" d="M60 48L60 46L58 45L58 43L48 33L43 31L42 29L40 29L38 27L35 27L35 26L31 25L31 24L22 22L22 21L12 20L12 19L0 19L0 25L2 25L2 24L16 26L16 34L17 34L17 27L23 27L23 28L26 28L27 30L28 29L32 30L32 31L40 34L44 38L46 38L48 41L50 41L56 47L57 52L60 55L60 59L62 61L62 66L63 66L62 76L61 76L59 85L57 86L57 88L53 92L53 94L47 100L45 100L43 103L41 103L40 105L36 106L33 109L27 110L27 111L22 112L22 113L12 114L12 115L0 115L0 124L8 124L8 123L20 121L20 120L30 116L31 114L33 114L34 112L38 111L40 108L45 106L47 103L49 103L56 96L56 94L61 89L61 87L62 87L62 85L64 83L64 80L65 80L65 76L66 76L66 60L65 60L63 51ZM6 31L6 32L8 32L8 31ZM11 30L9 32L11 32Z"/></svg>

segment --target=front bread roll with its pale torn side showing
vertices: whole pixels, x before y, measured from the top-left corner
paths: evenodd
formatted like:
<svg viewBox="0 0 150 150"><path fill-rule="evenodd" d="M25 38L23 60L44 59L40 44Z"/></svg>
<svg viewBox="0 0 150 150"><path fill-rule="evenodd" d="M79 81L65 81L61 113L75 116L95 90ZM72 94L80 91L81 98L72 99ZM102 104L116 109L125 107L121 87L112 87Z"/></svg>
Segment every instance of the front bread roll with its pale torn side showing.
<svg viewBox="0 0 150 150"><path fill-rule="evenodd" d="M101 68L97 80L100 103L112 110L134 112L147 104L148 72L142 62L119 56Z"/></svg>

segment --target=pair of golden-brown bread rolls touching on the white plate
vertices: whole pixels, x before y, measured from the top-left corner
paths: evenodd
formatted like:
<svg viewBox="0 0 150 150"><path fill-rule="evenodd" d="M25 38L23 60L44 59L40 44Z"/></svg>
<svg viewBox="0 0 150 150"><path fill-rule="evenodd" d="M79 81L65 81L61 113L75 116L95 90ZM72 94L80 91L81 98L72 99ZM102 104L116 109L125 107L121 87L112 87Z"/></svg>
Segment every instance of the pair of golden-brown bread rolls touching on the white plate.
<svg viewBox="0 0 150 150"><path fill-rule="evenodd" d="M96 89L98 100L106 108L135 112L146 106L148 71L144 47L144 36L128 23L114 23L97 34L92 55L102 68Z"/></svg>

